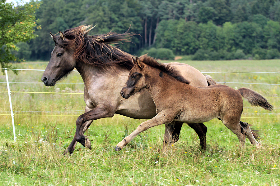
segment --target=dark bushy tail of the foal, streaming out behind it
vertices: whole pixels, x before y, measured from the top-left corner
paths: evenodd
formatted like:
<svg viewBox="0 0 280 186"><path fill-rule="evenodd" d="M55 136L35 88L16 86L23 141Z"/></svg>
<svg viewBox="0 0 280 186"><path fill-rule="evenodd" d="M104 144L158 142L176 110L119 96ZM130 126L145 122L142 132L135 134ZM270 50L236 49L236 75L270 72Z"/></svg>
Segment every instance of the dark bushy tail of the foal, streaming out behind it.
<svg viewBox="0 0 280 186"><path fill-rule="evenodd" d="M250 88L242 87L238 89L242 97L248 101L253 106L260 106L266 110L273 111L273 106L268 102L264 96L260 95L258 92L251 90Z"/></svg>

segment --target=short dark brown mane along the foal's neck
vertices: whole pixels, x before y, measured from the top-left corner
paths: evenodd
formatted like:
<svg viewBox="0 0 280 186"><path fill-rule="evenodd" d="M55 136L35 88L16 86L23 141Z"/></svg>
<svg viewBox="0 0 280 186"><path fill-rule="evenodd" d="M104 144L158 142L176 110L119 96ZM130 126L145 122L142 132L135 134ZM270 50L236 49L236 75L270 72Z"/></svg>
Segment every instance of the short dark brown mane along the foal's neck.
<svg viewBox="0 0 280 186"><path fill-rule="evenodd" d="M186 80L180 72L178 72L174 67L171 67L171 64L164 65L162 63L158 63L154 58L148 56L147 54L139 57L139 60L142 63L145 63L153 68L159 69L161 72L167 73L171 77L177 79L180 82L189 84L190 82Z"/></svg>

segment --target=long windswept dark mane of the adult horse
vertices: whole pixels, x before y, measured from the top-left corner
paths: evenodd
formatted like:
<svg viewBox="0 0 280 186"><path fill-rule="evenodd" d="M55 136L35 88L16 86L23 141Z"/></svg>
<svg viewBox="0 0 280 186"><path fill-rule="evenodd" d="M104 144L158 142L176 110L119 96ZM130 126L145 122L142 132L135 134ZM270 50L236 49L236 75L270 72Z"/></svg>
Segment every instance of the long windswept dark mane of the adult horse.
<svg viewBox="0 0 280 186"><path fill-rule="evenodd" d="M98 67L119 65L128 70L133 67L132 55L120 50L111 44L128 41L133 33L105 33L101 35L88 35L94 27L78 26L63 32L65 40L59 36L54 37L55 45L65 49L73 49L73 57L84 63Z"/></svg>

